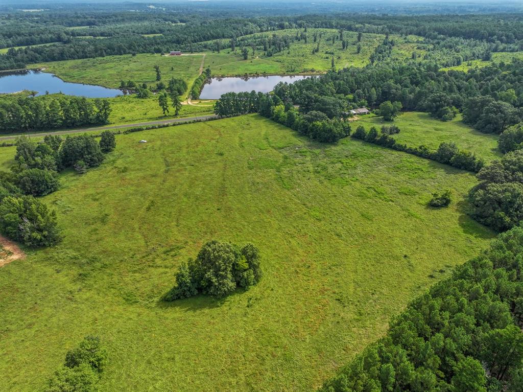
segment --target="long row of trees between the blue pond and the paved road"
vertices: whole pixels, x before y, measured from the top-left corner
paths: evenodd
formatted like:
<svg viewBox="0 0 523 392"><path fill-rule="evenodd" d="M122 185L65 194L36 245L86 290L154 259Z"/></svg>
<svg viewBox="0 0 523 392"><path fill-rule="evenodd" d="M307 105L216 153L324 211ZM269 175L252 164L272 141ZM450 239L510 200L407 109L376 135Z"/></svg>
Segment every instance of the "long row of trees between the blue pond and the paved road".
<svg viewBox="0 0 523 392"><path fill-rule="evenodd" d="M0 132L26 132L106 124L111 113L107 99L89 100L63 95L0 98Z"/></svg>

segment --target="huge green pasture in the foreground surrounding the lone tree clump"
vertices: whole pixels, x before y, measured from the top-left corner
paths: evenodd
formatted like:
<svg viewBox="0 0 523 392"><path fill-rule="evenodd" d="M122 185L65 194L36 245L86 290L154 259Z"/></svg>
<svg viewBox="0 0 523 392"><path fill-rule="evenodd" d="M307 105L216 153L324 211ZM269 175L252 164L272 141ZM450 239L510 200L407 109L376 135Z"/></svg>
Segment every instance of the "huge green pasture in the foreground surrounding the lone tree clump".
<svg viewBox="0 0 523 392"><path fill-rule="evenodd" d="M101 392L311 390L492 237L464 214L472 174L257 115L119 135L61 183L43 201L63 242L0 269L0 390L40 390L87 334L109 352ZM257 244L261 282L158 301L210 239Z"/></svg>

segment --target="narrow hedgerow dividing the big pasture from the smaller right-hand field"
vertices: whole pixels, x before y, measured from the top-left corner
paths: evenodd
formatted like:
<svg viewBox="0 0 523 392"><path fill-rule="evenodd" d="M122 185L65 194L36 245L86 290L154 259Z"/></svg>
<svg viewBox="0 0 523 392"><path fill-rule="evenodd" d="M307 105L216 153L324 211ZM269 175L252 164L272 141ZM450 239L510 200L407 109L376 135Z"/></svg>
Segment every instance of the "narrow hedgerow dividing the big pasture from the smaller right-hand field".
<svg viewBox="0 0 523 392"><path fill-rule="evenodd" d="M453 142L442 142L436 151L430 151L426 145L408 147L404 143L398 143L396 139L387 133L379 135L376 127L372 127L367 132L361 125L356 129L352 137L471 172L479 172L484 165L484 161L481 158L477 158L475 154L469 151L459 150Z"/></svg>

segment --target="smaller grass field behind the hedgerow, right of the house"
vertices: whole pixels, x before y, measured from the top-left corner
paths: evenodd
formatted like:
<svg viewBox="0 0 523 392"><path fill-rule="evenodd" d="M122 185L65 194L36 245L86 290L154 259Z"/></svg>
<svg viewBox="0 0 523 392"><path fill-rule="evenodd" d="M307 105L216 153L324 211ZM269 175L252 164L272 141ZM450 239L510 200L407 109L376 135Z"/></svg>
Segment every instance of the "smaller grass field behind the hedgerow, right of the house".
<svg viewBox="0 0 523 392"><path fill-rule="evenodd" d="M368 131L374 126L380 132L381 126L390 124L396 124L400 128L400 133L393 137L410 147L425 144L428 148L436 150L441 142L453 141L460 149L472 151L487 162L499 159L503 155L497 148L497 135L482 133L463 124L461 115L452 121L440 121L431 118L427 113L407 111L394 122L367 115L351 122L351 127L355 131L359 125L362 125Z"/></svg>

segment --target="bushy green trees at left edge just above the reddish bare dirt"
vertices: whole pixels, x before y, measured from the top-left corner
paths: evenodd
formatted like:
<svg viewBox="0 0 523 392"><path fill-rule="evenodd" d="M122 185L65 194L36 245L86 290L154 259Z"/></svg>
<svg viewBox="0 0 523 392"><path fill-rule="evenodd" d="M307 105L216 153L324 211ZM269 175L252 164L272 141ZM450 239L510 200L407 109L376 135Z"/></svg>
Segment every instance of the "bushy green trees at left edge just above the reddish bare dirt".
<svg viewBox="0 0 523 392"><path fill-rule="evenodd" d="M0 232L30 247L49 247L60 241L56 212L32 196L3 198Z"/></svg>

